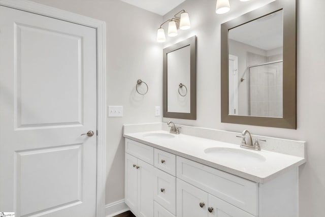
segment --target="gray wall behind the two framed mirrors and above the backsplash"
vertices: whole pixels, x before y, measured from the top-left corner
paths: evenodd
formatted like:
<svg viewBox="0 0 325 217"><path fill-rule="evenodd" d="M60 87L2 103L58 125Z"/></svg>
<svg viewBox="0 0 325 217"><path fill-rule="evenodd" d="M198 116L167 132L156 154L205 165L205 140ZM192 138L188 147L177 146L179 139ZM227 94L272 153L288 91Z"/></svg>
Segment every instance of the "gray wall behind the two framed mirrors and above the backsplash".
<svg viewBox="0 0 325 217"><path fill-rule="evenodd" d="M175 119L175 123L219 130L307 141L307 163L300 167L300 217L318 217L325 213L325 8L324 0L298 0L297 42L297 130L254 127L220 122L220 24L245 12L272 2L231 0L232 10L214 13L213 0L187 0L164 16L172 17L181 9L188 11L192 28L180 30L165 46L197 35L197 120ZM163 118L166 122L171 118ZM238 143L240 140L238 140Z"/></svg>

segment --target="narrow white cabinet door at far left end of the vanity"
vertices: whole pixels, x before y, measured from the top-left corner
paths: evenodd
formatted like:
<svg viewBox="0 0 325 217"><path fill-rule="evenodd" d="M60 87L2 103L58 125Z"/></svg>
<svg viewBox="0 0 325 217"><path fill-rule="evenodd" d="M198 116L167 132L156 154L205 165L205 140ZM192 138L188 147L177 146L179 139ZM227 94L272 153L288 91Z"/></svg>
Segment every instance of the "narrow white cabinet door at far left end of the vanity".
<svg viewBox="0 0 325 217"><path fill-rule="evenodd" d="M137 213L137 158L125 153L125 203Z"/></svg>

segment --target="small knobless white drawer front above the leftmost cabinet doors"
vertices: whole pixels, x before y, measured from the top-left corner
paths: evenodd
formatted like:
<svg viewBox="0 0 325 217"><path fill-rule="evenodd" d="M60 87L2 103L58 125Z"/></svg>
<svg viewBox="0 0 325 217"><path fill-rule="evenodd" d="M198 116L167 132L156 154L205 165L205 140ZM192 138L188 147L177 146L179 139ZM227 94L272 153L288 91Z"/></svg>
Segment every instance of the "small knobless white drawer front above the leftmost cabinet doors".
<svg viewBox="0 0 325 217"><path fill-rule="evenodd" d="M153 147L125 139L125 152L153 165Z"/></svg>

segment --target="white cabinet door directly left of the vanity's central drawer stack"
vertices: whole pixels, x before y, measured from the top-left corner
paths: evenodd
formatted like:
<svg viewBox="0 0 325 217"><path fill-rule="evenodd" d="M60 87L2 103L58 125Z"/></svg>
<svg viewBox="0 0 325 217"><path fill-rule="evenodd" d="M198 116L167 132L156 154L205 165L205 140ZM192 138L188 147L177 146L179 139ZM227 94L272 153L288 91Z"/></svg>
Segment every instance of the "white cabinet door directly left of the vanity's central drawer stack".
<svg viewBox="0 0 325 217"><path fill-rule="evenodd" d="M154 168L140 159L138 166L138 217L152 217Z"/></svg>

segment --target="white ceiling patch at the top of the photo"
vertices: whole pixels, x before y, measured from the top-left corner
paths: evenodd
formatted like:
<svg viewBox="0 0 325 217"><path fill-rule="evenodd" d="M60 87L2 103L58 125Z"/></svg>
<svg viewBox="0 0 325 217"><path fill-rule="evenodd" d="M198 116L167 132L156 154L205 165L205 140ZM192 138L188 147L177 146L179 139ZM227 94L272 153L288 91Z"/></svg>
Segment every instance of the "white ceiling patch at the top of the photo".
<svg viewBox="0 0 325 217"><path fill-rule="evenodd" d="M164 16L185 0L121 0L138 8Z"/></svg>

